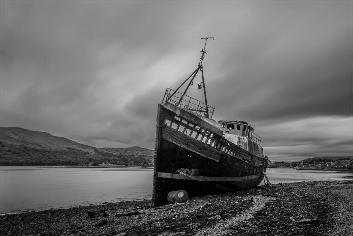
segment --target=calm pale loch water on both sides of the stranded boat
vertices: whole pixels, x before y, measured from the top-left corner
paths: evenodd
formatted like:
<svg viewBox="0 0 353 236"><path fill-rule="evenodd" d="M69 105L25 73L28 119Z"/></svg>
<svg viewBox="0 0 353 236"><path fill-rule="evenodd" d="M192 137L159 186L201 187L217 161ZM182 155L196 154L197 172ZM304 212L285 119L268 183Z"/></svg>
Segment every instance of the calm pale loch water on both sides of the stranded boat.
<svg viewBox="0 0 353 236"><path fill-rule="evenodd" d="M350 172L269 168L270 182L347 180ZM152 198L153 169L25 167L0 168L1 213Z"/></svg>

